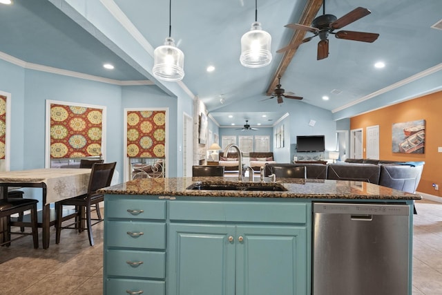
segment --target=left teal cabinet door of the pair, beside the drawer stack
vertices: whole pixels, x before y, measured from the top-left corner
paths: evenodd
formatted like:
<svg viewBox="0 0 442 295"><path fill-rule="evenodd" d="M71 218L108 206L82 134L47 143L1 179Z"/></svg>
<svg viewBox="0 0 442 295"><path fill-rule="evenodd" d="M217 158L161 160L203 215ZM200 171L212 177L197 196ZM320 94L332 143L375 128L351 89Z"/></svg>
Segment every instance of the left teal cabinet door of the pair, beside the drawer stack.
<svg viewBox="0 0 442 295"><path fill-rule="evenodd" d="M168 294L235 294L234 237L232 225L171 223L167 246Z"/></svg>

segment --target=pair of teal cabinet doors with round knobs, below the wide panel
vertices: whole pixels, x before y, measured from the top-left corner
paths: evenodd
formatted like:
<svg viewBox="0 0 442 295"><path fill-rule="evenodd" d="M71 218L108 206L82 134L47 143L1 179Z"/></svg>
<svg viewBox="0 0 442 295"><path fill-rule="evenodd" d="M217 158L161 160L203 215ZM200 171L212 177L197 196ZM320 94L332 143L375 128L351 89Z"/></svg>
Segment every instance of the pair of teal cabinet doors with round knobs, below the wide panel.
<svg viewBox="0 0 442 295"><path fill-rule="evenodd" d="M306 294L305 227L169 227L169 295Z"/></svg>

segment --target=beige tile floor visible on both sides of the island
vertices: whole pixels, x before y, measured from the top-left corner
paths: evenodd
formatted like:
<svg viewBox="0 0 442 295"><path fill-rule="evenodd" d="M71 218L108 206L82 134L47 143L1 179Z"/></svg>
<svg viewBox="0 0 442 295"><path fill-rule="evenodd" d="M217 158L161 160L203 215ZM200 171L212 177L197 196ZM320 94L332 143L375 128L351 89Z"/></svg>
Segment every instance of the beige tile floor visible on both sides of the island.
<svg viewBox="0 0 442 295"><path fill-rule="evenodd" d="M416 202L414 216L413 295L442 294L442 203ZM95 246L86 231L51 230L47 250L32 249L32 238L0 247L0 294L102 294L103 222L93 227Z"/></svg>

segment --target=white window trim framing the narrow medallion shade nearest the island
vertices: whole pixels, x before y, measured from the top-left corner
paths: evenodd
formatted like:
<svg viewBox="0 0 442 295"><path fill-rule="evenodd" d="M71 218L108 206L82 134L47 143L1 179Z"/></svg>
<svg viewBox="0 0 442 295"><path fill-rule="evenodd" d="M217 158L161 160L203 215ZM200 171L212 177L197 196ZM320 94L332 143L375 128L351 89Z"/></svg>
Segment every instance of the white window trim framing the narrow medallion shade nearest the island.
<svg viewBox="0 0 442 295"><path fill-rule="evenodd" d="M164 158L166 159L166 175L164 177L169 177L169 108L124 108L123 110L123 131L124 131L124 146L123 146L123 181L129 181L129 158L127 156L127 112L128 111L165 111L166 116L164 120L166 121L166 128L164 131L166 132L166 138L164 142Z"/></svg>

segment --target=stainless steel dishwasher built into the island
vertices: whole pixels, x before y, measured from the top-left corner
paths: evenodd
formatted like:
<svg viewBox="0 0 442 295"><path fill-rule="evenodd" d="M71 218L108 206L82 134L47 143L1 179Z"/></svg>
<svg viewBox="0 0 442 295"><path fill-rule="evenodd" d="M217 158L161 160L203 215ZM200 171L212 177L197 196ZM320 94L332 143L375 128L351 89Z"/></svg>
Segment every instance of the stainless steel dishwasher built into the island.
<svg viewBox="0 0 442 295"><path fill-rule="evenodd" d="M410 207L315 202L314 295L405 295Z"/></svg>

